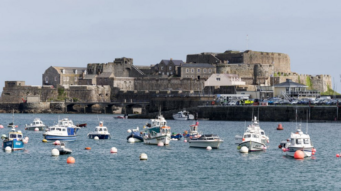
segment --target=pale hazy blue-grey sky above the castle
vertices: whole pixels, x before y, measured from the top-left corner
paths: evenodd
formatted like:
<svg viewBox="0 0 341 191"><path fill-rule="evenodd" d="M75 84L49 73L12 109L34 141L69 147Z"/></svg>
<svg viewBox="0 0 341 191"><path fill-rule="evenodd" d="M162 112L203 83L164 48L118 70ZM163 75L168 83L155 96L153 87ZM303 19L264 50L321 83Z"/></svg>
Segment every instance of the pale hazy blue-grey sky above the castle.
<svg viewBox="0 0 341 191"><path fill-rule="evenodd" d="M0 0L0 92L5 81L41 85L50 66L122 57L154 65L247 49L286 53L293 72L331 75L341 92L340 8L341 1Z"/></svg>

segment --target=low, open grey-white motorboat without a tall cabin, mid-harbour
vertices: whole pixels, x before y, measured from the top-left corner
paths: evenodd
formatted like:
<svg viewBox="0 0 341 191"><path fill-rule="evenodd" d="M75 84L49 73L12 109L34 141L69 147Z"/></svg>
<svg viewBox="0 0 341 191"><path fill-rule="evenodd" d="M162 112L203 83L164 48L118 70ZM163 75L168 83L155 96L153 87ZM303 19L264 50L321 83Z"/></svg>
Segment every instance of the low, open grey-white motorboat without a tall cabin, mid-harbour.
<svg viewBox="0 0 341 191"><path fill-rule="evenodd" d="M207 148L210 146L211 148L219 148L220 144L224 141L217 135L206 134L199 135L197 138L190 138L190 147L199 147L199 148Z"/></svg>

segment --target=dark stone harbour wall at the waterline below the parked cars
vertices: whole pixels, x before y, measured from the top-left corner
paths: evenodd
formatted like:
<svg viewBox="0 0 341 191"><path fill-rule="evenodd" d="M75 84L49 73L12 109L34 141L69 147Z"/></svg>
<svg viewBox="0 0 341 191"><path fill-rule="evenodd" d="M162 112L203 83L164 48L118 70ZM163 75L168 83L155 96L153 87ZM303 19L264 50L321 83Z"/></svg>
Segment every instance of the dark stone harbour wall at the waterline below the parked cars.
<svg viewBox="0 0 341 191"><path fill-rule="evenodd" d="M199 106L186 108L198 118L217 121L251 121L252 116L259 116L260 121L295 121L296 110L298 121L325 122L340 121L339 107L309 107L309 106ZM166 119L173 119L173 114L180 111L162 111ZM153 119L158 113L130 116L130 119Z"/></svg>

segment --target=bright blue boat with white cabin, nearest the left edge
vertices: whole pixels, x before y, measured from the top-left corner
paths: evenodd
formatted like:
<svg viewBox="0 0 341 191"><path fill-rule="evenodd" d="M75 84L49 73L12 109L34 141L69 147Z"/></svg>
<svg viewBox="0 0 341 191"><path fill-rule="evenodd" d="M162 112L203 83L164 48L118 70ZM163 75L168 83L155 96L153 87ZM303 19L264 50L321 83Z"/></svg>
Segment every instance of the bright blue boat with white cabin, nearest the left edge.
<svg viewBox="0 0 341 191"><path fill-rule="evenodd" d="M23 133L16 131L16 129L11 129L9 137L4 138L2 148L7 146L11 147L12 151L23 150Z"/></svg>

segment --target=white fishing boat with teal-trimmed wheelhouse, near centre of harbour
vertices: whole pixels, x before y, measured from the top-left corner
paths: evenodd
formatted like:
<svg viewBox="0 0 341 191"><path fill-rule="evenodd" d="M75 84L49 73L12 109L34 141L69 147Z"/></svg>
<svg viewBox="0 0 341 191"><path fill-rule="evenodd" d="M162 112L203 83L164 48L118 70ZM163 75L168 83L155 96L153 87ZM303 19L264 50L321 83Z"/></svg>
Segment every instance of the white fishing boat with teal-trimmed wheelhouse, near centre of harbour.
<svg viewBox="0 0 341 191"><path fill-rule="evenodd" d="M144 143L157 145L162 142L168 145L171 141L171 127L167 126L166 119L159 114L156 119L151 119L151 124L146 125Z"/></svg>

